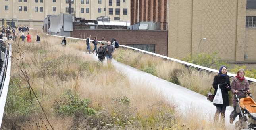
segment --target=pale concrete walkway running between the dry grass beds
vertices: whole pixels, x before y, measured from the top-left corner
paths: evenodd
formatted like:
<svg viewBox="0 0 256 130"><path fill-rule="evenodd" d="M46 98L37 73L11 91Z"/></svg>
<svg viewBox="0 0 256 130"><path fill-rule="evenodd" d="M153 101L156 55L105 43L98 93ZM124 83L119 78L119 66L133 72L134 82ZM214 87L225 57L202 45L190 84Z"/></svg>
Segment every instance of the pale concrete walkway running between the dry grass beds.
<svg viewBox="0 0 256 130"><path fill-rule="evenodd" d="M94 54L92 55L95 57ZM98 59L98 57L95 58ZM104 64L106 63L107 62L105 60ZM114 59L112 59L112 64L117 68L117 70L129 76L131 80L141 80L142 82L147 82L151 86L156 87L158 90L162 91L164 95L175 100L179 106L178 111L186 111L190 108L197 106L196 109L202 111L202 114L205 117L214 117L214 114L216 112L216 106L214 106L212 102L208 101L206 96L163 80L146 72L140 71L123 63L117 62ZM176 97L179 97L179 99ZM200 107L198 108L198 106ZM232 111L233 107L229 106L226 108L226 124L230 124L229 115ZM238 116L235 119L233 125L236 121L238 121Z"/></svg>

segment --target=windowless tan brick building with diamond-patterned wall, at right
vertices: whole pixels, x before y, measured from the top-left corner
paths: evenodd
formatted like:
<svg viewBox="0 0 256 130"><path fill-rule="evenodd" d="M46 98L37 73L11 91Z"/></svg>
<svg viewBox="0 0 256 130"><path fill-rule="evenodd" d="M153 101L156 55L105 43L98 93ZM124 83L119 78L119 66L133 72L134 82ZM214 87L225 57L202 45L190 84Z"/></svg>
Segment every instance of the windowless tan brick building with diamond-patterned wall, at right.
<svg viewBox="0 0 256 130"><path fill-rule="evenodd" d="M169 0L168 56L217 52L222 61L256 61L256 1Z"/></svg>

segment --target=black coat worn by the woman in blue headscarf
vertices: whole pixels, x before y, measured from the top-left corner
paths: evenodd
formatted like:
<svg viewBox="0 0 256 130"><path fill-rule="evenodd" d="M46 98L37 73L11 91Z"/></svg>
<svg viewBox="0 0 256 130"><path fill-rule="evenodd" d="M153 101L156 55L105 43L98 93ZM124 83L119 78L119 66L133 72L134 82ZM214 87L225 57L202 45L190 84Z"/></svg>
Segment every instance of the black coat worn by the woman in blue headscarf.
<svg viewBox="0 0 256 130"><path fill-rule="evenodd" d="M225 86L222 86L221 84L223 84L223 83L227 83L229 88L226 88ZM220 106L220 107L229 106L229 93L228 93L228 91L230 91L230 89L231 89L229 77L220 76L218 78L218 75L214 76L214 82L213 82L213 88L215 89L214 90L214 95L216 95L216 92L217 92L217 89L218 89L218 84L219 84L219 88L221 89L221 92L222 92L223 104L215 104L214 103L214 106Z"/></svg>

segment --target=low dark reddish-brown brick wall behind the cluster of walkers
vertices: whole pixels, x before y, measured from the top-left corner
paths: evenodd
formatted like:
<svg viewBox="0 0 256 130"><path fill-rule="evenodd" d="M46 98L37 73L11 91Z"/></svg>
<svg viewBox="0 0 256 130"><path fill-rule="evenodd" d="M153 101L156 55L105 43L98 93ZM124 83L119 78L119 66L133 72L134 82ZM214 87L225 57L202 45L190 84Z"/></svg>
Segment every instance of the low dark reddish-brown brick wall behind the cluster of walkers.
<svg viewBox="0 0 256 130"><path fill-rule="evenodd" d="M102 37L106 41L110 41L114 37L120 45L141 44L155 45L155 53L167 56L167 36L166 30L79 30L75 29L70 33L71 37L87 38L91 35L91 39L97 36L101 41Z"/></svg>

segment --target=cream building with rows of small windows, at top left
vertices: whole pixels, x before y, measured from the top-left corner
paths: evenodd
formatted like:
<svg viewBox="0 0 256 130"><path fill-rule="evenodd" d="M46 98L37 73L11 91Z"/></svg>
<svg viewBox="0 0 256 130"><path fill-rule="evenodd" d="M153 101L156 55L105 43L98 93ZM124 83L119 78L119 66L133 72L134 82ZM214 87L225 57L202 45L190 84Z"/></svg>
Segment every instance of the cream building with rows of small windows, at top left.
<svg viewBox="0 0 256 130"><path fill-rule="evenodd" d="M17 26L42 28L47 15L68 13L69 0L1 0L0 23L2 19L14 19ZM111 21L130 20L130 0L71 0L72 14L87 20L108 16ZM21 22L24 20L24 22ZM11 21L8 21L11 22Z"/></svg>

